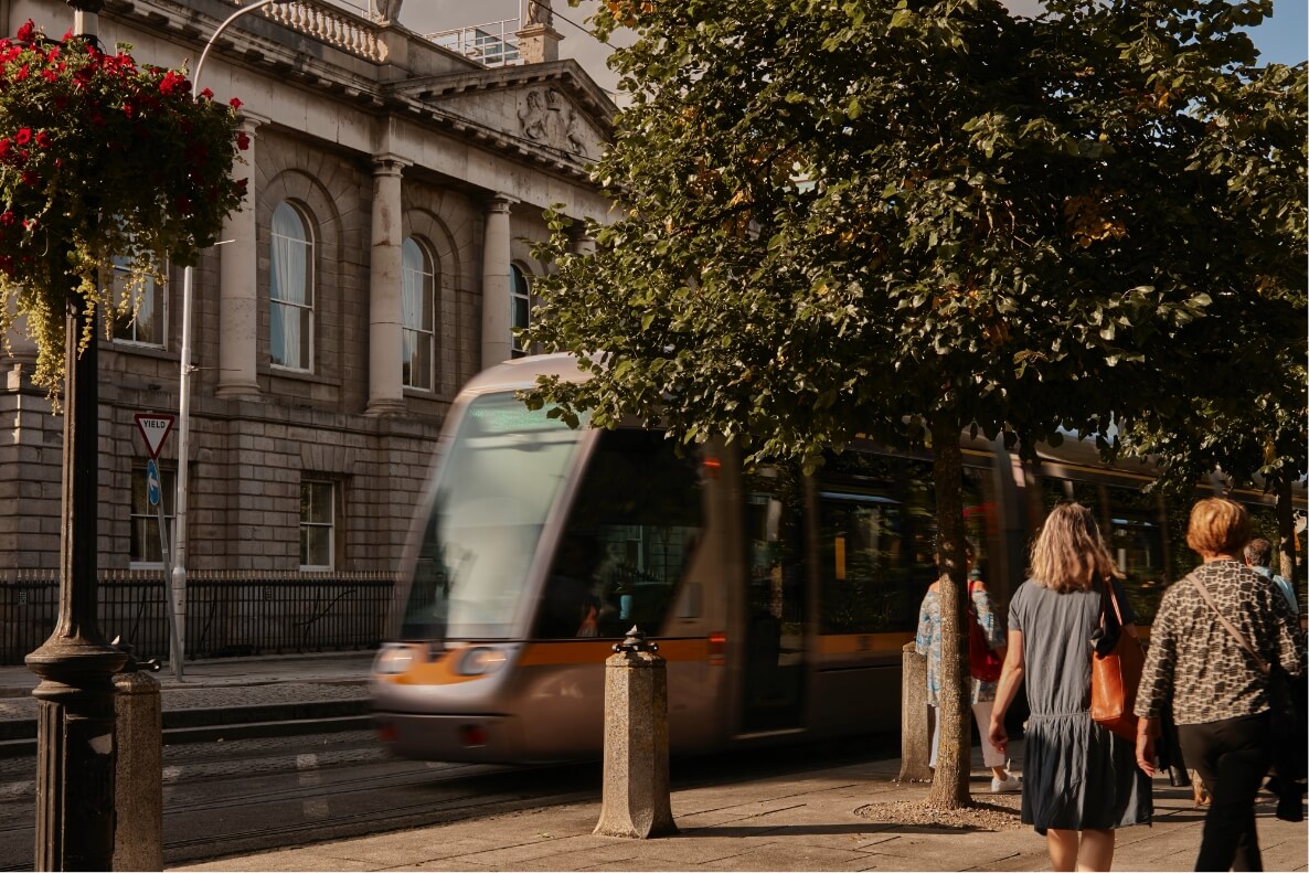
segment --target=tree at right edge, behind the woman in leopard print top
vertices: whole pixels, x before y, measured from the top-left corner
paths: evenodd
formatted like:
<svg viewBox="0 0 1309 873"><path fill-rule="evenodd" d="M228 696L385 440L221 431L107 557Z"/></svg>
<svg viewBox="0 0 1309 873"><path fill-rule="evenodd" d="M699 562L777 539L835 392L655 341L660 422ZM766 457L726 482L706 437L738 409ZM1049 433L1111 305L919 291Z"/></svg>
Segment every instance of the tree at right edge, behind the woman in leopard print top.
<svg viewBox="0 0 1309 873"><path fill-rule="evenodd" d="M1246 275L1220 291L1210 318L1174 342L1183 366L1169 368L1156 399L1123 420L1123 453L1162 467L1160 484L1186 497L1220 470L1232 484L1276 495L1282 573L1297 579L1292 486L1309 454L1305 418L1304 270L1309 186L1309 124L1304 114L1309 69L1271 65L1241 81L1220 82L1228 105L1196 149L1225 178L1223 209L1242 233L1221 241L1237 249Z"/></svg>

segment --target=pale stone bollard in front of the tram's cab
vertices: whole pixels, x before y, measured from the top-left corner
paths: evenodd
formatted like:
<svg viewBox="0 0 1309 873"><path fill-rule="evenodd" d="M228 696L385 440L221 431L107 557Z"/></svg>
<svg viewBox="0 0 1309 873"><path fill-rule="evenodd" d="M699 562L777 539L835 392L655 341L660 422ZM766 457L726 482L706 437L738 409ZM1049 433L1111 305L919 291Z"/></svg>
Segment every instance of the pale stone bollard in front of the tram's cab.
<svg viewBox="0 0 1309 873"><path fill-rule="evenodd" d="M632 627L605 661L605 789L596 834L675 834L668 784L668 673Z"/></svg>

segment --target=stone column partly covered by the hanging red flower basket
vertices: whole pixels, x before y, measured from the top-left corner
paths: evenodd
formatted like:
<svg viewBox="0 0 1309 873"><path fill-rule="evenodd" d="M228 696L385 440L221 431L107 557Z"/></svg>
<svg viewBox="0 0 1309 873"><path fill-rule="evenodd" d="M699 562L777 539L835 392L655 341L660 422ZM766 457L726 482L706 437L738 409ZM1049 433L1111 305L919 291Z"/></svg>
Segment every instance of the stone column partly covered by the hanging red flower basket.
<svg viewBox="0 0 1309 873"><path fill-rule="evenodd" d="M245 164L236 164L232 174L246 179L241 208L232 212L223 225L219 246L219 387L216 394L228 398L259 397L259 251L257 233L258 203L254 190L254 132L268 119L243 115L241 131L250 137L250 148L240 154Z"/></svg>

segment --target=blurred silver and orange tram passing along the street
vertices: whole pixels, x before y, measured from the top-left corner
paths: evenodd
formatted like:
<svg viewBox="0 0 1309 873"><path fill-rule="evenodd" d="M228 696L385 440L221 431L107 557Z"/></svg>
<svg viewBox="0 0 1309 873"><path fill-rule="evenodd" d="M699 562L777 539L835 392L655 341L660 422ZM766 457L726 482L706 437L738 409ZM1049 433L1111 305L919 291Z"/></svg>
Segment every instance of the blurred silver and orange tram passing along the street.
<svg viewBox="0 0 1309 873"><path fill-rule="evenodd" d="M428 760L596 758L603 661L632 627L666 660L674 753L898 732L937 576L929 458L852 445L802 476L715 442L678 457L657 431L528 411L514 391L542 373L583 377L568 355L522 357L452 408L372 670L380 738ZM969 535L1001 605L1064 499L1100 516L1144 622L1190 569L1185 516L1140 492L1144 469L1077 440L1035 465L965 441ZM1270 499L1242 499L1275 530Z"/></svg>

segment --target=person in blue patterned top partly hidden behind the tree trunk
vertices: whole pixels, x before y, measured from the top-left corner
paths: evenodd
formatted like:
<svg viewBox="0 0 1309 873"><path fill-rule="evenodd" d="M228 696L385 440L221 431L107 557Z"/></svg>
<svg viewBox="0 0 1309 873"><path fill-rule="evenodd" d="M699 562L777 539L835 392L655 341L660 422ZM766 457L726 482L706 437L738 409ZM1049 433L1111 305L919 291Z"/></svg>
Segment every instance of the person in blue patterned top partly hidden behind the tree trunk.
<svg viewBox="0 0 1309 873"><path fill-rule="evenodd" d="M969 601L970 622L975 622L986 637L986 644L991 650L997 652L1004 658L1004 635L1000 623L996 620L995 609L991 603L991 594L982 581L980 573L974 569L977 558L973 543L966 543L969 563ZM937 555L940 560L940 555ZM941 747L941 599L939 589L941 584L949 585L949 579L942 576L928 586L923 597L923 605L918 614L918 635L914 647L919 654L927 657L927 703L932 707L932 753L927 766L936 768L936 755ZM973 664L973 675L969 681L969 700L973 704L973 716L978 722L978 733L986 730L991 724L991 705L995 700L997 675L986 675L979 670L978 664ZM991 746L983 738L982 763L991 768L991 792L1000 794L1016 792L1021 788L1021 781L1011 774L1007 767L1004 753Z"/></svg>

